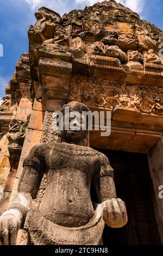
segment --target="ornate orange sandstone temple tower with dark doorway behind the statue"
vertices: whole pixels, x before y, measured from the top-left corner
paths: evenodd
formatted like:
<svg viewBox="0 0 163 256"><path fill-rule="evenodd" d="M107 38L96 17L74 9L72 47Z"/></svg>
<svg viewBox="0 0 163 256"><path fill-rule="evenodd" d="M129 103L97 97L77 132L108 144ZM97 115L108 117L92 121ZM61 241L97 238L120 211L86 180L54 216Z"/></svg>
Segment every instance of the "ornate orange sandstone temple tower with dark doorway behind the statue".
<svg viewBox="0 0 163 256"><path fill-rule="evenodd" d="M60 17L45 7L30 26L0 106L0 214L17 193L30 149L58 141L53 112L78 101L111 112L111 135L85 145L109 156L128 224L105 227L104 245L163 244L163 32L114 0ZM46 190L43 176L41 201ZM163 193L162 193L163 194ZM26 240L22 229L18 244Z"/></svg>

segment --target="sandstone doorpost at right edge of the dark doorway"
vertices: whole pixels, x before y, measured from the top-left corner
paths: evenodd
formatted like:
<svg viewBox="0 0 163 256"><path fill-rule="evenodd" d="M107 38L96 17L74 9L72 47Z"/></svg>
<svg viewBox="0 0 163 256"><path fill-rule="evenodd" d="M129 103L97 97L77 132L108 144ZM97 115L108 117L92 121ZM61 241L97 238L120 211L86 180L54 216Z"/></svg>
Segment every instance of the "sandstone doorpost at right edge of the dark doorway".
<svg viewBox="0 0 163 256"><path fill-rule="evenodd" d="M147 156L155 192L155 217L156 222L158 223L161 243L163 245L163 199L159 198L159 186L163 185L163 136L149 150Z"/></svg>

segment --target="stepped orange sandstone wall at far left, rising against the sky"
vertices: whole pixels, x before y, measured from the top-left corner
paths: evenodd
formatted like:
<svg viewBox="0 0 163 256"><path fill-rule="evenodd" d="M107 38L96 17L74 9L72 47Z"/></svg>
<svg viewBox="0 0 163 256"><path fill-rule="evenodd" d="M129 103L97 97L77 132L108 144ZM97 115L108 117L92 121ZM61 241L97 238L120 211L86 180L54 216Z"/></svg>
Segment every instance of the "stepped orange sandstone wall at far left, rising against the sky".
<svg viewBox="0 0 163 256"><path fill-rule="evenodd" d="M16 72L8 83L5 92L7 96L4 97L4 102L0 107L0 125L1 121L4 120L3 115L7 116L11 112L12 116L11 118L8 117L9 124L7 131L5 131L4 125L1 127L1 131L6 132L3 150L5 150L6 147L8 153L5 154L9 155L9 162L7 160L5 166L2 168L9 169L5 169L5 175L7 175L7 177L5 178L4 195L0 204L0 214L8 209L12 188L15 186L16 182L17 168L24 138L26 137L29 117L32 111L28 53L22 54L21 58L18 60ZM4 165L4 163L2 165Z"/></svg>

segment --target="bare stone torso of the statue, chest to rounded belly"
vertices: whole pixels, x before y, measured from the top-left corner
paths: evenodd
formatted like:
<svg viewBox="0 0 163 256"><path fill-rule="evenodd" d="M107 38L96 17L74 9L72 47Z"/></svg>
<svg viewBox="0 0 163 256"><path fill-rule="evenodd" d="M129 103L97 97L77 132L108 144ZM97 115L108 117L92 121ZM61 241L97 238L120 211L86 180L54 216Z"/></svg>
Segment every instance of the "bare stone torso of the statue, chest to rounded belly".
<svg viewBox="0 0 163 256"><path fill-rule="evenodd" d="M74 144L51 143L43 150L47 186L40 212L59 225L79 227L94 214L90 186L100 169L96 150Z"/></svg>

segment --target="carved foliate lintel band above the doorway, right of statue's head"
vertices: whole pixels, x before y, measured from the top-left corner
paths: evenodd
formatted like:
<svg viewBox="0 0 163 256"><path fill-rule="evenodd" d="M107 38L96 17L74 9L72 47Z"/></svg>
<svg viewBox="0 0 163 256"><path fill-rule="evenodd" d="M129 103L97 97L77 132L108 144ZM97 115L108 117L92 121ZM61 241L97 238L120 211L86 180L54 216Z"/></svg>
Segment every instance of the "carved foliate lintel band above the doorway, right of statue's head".
<svg viewBox="0 0 163 256"><path fill-rule="evenodd" d="M78 100L87 106L127 108L163 115L162 94L163 89L156 86L127 86L126 83L110 82L98 77L73 76L68 101Z"/></svg>

